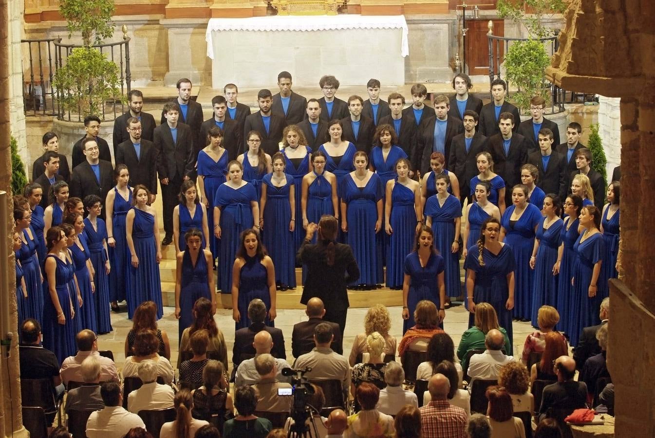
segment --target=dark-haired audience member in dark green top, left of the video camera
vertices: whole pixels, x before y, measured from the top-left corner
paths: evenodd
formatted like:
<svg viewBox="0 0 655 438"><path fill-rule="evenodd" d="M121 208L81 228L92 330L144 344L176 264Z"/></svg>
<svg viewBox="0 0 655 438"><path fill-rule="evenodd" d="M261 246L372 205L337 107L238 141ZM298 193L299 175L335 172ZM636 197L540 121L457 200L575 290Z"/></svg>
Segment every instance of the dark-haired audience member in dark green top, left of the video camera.
<svg viewBox="0 0 655 438"><path fill-rule="evenodd" d="M270 420L255 416L257 391L252 386L240 386L234 390L234 407L238 415L225 422L223 437L265 438L273 428Z"/></svg>

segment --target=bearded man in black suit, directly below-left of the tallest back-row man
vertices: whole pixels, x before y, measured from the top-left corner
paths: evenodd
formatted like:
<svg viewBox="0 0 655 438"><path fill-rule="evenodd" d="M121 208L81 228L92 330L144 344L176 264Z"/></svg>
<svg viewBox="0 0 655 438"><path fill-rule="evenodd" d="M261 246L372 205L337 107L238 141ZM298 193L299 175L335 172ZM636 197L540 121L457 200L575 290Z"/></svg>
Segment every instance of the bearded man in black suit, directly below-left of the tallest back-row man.
<svg viewBox="0 0 655 438"><path fill-rule="evenodd" d="M257 104L259 111L246 117L244 122L244 151L248 151L248 132L257 131L261 135L261 148L264 152L273 156L280 150L280 140L282 140L282 131L287 126L287 122L281 115L271 111L271 91L259 90L257 93Z"/></svg>

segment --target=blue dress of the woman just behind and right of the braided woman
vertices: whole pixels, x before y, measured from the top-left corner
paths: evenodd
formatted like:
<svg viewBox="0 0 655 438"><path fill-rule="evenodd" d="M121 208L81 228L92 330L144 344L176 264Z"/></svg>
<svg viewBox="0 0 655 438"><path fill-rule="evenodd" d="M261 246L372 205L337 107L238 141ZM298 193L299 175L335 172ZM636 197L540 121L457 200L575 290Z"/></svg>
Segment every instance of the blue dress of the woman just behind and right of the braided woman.
<svg viewBox="0 0 655 438"><path fill-rule="evenodd" d="M512 247L516 270L514 275L514 316L527 319L532 314L532 288L534 272L530 268L530 257L534 248L534 227L541 223L541 211L533 204L525 204L525 211L514 225L510 217L515 206L511 205L505 210L500 225L505 228L504 242ZM507 327L505 327L507 328Z"/></svg>

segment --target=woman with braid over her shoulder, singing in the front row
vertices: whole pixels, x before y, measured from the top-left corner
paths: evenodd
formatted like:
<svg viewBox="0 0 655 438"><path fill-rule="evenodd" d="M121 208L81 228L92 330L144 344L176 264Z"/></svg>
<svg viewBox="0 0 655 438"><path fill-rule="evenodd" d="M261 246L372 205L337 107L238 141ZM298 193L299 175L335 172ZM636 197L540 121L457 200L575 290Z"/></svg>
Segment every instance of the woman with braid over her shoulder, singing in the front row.
<svg viewBox="0 0 655 438"><path fill-rule="evenodd" d="M475 322L476 302L489 302L496 310L500 327L505 327L512 345L512 309L514 308L514 252L509 245L498 241L500 221L487 218L481 227L477 244L468 248L466 270L466 299L468 327ZM507 352L512 354L512 351Z"/></svg>

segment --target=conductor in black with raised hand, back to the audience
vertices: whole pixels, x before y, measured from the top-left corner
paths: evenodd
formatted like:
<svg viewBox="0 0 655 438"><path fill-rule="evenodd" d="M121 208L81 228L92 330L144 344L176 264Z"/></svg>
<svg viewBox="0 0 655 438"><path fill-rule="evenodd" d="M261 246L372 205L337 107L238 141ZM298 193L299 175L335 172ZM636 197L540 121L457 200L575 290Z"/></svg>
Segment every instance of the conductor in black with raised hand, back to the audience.
<svg viewBox="0 0 655 438"><path fill-rule="evenodd" d="M310 244L316 230L318 241ZM350 246L336 242L338 231L339 222L332 215L322 216L318 225L310 223L296 259L308 268L300 302L307 304L310 298L320 298L326 307L323 319L339 324L343 339L350 307L346 284L360 278L360 268Z"/></svg>

